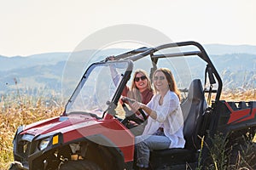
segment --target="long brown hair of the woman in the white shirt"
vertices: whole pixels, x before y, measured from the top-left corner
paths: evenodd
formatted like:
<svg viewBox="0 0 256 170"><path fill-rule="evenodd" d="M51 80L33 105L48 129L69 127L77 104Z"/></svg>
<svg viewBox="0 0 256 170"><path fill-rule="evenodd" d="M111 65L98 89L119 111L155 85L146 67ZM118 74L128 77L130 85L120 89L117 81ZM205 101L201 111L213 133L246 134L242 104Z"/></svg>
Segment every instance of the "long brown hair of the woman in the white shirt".
<svg viewBox="0 0 256 170"><path fill-rule="evenodd" d="M156 71L154 71L154 75L158 71L162 71L164 73L164 75L166 76L168 85L169 85L169 89L172 92L174 92L175 94L177 94L178 99L181 99L181 94L180 94L180 91L177 89L177 84L173 77L172 71L170 71L170 69L167 69L167 68L159 68ZM155 89L155 91L157 91L157 88L155 86L154 86L154 89Z"/></svg>

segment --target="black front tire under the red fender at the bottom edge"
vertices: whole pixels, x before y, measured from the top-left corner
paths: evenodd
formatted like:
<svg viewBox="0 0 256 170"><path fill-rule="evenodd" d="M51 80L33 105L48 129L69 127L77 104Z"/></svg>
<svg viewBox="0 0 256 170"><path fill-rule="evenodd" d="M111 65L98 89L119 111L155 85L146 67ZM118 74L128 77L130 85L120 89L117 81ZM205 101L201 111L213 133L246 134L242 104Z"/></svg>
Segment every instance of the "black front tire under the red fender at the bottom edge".
<svg viewBox="0 0 256 170"><path fill-rule="evenodd" d="M59 170L102 170L96 163L88 160L65 161Z"/></svg>

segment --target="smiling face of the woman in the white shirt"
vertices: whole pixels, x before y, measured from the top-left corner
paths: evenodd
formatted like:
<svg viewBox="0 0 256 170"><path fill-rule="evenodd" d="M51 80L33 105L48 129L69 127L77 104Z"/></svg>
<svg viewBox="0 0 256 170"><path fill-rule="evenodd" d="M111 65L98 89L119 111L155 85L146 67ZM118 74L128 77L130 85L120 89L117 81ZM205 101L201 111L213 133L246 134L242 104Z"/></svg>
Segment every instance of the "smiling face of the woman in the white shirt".
<svg viewBox="0 0 256 170"><path fill-rule="evenodd" d="M168 81L166 79L166 75L162 71L156 71L154 73L154 87L157 91L167 91L169 90Z"/></svg>

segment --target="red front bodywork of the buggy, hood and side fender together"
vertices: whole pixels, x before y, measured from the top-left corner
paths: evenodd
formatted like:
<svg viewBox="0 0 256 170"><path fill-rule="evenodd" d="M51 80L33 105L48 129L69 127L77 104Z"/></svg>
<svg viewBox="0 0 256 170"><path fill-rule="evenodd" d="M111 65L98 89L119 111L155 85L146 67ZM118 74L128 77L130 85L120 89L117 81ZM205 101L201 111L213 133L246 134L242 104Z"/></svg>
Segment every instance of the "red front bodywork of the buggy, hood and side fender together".
<svg viewBox="0 0 256 170"><path fill-rule="evenodd" d="M36 139L40 135L45 135L46 137L53 136L56 133L61 133L61 143L63 144L68 144L68 142L84 137L89 137L88 139L93 142L99 142L99 144L103 142L105 144L104 139L106 138L125 154L125 161L133 159L133 152L131 152L131 150L134 150L133 134L108 114L102 120L79 114L58 116L27 125L20 134L32 134ZM101 136L104 137L103 140Z"/></svg>

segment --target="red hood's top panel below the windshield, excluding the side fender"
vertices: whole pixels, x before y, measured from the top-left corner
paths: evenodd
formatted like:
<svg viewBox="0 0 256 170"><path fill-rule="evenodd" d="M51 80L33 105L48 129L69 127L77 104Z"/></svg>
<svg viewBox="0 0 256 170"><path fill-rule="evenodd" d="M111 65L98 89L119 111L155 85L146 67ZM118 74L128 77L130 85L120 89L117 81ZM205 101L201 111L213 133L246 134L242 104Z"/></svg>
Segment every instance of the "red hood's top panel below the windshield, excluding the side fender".
<svg viewBox="0 0 256 170"><path fill-rule="evenodd" d="M27 125L25 129L23 129L23 132L21 134L29 133L37 136L39 134L53 133L56 130L58 132L65 133L63 132L67 131L67 128L65 127L75 127L81 122L90 122L87 124L92 125L96 124L97 121L94 117L84 115L57 116L44 121L35 122L30 125Z"/></svg>

